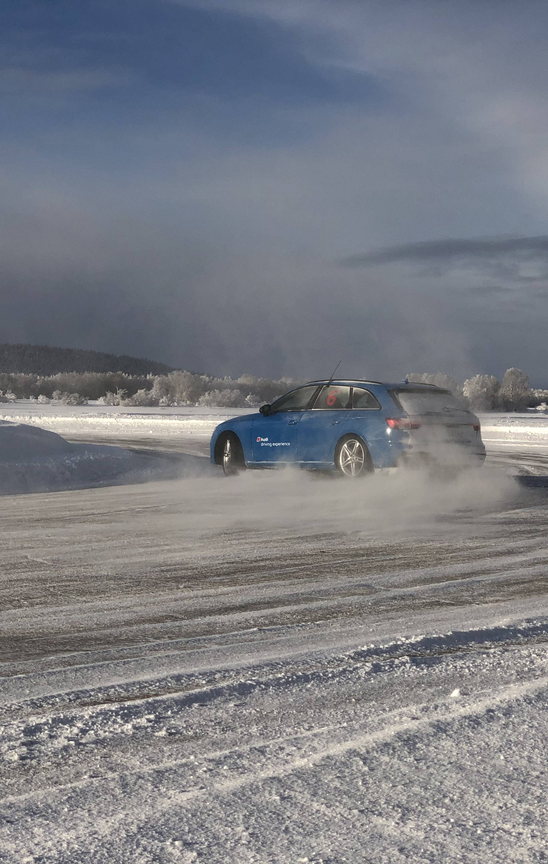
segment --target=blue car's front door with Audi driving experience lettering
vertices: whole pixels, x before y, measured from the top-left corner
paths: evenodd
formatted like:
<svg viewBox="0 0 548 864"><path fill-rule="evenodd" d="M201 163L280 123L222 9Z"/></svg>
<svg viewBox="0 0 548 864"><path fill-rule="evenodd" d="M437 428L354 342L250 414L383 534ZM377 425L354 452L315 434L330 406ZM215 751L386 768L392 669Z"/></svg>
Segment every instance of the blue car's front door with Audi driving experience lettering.
<svg viewBox="0 0 548 864"><path fill-rule="evenodd" d="M299 421L317 392L317 384L299 387L277 399L270 414L258 416L253 421L251 452L255 464L295 461Z"/></svg>

